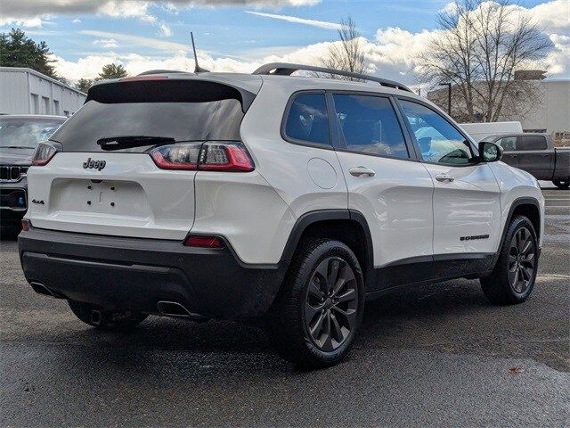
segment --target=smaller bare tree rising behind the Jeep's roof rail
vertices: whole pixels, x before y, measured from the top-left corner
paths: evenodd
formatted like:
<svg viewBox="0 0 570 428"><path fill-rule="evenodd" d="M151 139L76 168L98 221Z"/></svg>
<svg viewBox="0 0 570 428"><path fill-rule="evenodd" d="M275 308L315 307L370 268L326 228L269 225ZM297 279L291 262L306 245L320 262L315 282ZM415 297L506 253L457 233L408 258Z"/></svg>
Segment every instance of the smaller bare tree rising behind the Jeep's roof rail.
<svg viewBox="0 0 570 428"><path fill-rule="evenodd" d="M340 20L338 38L337 42L330 45L328 55L322 58L322 65L330 69L364 73L368 65L364 56L364 44L360 32L356 29L356 24L350 16ZM338 75L331 75L330 78L359 80L358 78Z"/></svg>

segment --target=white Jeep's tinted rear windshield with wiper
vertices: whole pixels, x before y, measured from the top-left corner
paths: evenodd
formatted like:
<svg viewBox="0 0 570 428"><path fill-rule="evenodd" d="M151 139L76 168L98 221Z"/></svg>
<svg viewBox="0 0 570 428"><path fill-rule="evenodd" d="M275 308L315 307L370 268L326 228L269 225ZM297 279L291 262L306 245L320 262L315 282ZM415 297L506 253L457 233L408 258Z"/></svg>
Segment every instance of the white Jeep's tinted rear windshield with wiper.
<svg viewBox="0 0 570 428"><path fill-rule="evenodd" d="M203 103L99 103L77 111L52 140L65 152L100 151L97 141L113 136L160 136L175 141L240 140L238 100ZM145 147L126 149L141 152Z"/></svg>

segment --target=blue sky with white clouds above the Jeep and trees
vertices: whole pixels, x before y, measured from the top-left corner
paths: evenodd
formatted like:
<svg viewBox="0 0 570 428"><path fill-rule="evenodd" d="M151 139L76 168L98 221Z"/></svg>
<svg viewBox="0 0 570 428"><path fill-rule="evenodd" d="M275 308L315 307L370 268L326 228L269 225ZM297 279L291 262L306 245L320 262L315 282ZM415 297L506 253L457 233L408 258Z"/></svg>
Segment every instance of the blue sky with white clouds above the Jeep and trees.
<svg viewBox="0 0 570 428"><path fill-rule="evenodd" d="M135 74L202 67L250 72L264 62L317 63L351 15L370 72L414 85L415 59L436 37L449 0L0 0L0 32L24 29L52 49L64 78L94 78L109 62ZM517 2L550 37L549 78L570 78L570 0Z"/></svg>

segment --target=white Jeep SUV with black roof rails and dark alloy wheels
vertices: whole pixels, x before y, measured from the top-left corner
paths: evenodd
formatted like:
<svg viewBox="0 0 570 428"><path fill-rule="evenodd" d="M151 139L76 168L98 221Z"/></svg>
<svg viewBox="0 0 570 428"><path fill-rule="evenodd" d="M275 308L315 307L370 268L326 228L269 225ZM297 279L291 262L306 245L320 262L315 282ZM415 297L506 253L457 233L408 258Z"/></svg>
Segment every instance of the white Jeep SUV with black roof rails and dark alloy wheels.
<svg viewBox="0 0 570 428"><path fill-rule="evenodd" d="M330 366L387 288L467 277L494 303L529 297L544 199L500 159L382 78L119 78L38 147L21 264L100 329L256 319L283 358Z"/></svg>

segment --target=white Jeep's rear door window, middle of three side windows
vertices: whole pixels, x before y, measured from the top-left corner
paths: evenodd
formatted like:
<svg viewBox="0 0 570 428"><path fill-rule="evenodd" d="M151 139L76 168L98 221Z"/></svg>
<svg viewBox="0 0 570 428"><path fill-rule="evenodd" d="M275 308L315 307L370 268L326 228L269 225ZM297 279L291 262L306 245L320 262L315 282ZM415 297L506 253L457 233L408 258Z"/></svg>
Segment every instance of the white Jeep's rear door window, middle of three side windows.
<svg viewBox="0 0 570 428"><path fill-rule="evenodd" d="M386 97L333 95L346 149L363 154L408 158L402 128Z"/></svg>

